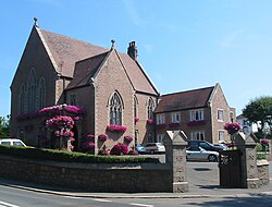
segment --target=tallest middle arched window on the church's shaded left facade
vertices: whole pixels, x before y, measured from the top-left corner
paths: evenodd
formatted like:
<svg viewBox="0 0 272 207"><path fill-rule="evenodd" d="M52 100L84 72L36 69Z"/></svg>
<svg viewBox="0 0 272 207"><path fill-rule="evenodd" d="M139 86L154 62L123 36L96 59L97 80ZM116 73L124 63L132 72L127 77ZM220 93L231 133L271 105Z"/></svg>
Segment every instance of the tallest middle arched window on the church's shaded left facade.
<svg viewBox="0 0 272 207"><path fill-rule="evenodd" d="M36 74L34 69L29 72L27 78L27 107L28 112L36 110Z"/></svg>

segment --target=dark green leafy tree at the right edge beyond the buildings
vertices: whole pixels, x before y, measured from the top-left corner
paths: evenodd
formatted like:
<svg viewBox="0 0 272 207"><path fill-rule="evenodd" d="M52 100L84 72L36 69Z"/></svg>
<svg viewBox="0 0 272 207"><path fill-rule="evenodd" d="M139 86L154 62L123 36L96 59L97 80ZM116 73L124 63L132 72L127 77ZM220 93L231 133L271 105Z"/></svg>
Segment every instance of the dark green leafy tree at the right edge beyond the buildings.
<svg viewBox="0 0 272 207"><path fill-rule="evenodd" d="M258 125L258 133L262 133L265 124L272 131L272 97L263 96L250 100L243 109L243 114L250 123Z"/></svg>

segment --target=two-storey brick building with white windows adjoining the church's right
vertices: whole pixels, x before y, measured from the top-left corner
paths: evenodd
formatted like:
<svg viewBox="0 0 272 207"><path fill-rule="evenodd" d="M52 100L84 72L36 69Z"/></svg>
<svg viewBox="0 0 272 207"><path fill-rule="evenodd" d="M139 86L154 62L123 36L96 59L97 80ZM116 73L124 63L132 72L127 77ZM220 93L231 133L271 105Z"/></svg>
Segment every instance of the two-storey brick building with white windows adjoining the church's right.
<svg viewBox="0 0 272 207"><path fill-rule="evenodd" d="M183 130L190 139L210 143L230 142L224 123L235 121L236 117L219 84L163 95L154 113L157 141L162 139L166 130Z"/></svg>

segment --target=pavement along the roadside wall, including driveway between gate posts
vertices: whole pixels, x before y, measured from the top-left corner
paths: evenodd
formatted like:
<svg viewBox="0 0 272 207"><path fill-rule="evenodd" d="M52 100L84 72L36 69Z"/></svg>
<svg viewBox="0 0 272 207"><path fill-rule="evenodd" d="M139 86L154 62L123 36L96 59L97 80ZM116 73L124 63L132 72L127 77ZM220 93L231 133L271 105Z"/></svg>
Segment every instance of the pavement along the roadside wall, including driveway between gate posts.
<svg viewBox="0 0 272 207"><path fill-rule="evenodd" d="M220 198L272 195L271 176L269 185L261 188L225 188L219 185L219 171L215 163L193 162L187 165L187 172L189 174L187 193L91 193L3 178L0 178L0 185L37 193L89 198Z"/></svg>

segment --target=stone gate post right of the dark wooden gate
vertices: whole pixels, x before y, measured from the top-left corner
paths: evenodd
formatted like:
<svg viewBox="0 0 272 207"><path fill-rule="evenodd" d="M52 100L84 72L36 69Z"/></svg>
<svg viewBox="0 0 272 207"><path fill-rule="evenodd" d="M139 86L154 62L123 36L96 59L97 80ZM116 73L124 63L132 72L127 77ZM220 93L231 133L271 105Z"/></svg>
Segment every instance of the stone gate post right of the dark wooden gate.
<svg viewBox="0 0 272 207"><path fill-rule="evenodd" d="M242 153L240 170L242 170L242 187L258 188L260 180L257 169L257 137L254 134L246 136L239 132L235 135L235 144Z"/></svg>

